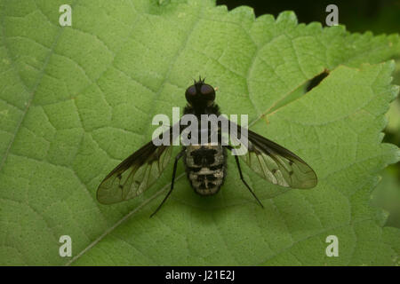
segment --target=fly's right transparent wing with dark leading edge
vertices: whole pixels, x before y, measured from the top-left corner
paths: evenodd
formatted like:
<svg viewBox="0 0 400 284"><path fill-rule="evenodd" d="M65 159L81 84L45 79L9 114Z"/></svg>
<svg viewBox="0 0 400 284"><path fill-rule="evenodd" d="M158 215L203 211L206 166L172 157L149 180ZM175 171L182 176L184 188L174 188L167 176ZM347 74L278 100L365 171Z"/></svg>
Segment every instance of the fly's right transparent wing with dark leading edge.
<svg viewBox="0 0 400 284"><path fill-rule="evenodd" d="M238 127L239 135L244 133L244 139L247 138L248 151L240 157L260 177L285 187L307 189L316 186L316 172L296 154L251 130L245 135L239 125L229 123Z"/></svg>

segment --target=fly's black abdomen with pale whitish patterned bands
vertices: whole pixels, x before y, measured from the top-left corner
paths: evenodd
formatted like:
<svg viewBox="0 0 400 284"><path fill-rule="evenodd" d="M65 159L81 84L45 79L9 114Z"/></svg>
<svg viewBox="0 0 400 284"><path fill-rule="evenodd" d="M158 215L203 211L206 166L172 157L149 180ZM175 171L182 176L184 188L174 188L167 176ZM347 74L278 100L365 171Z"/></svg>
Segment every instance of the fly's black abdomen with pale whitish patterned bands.
<svg viewBox="0 0 400 284"><path fill-rule="evenodd" d="M225 177L225 152L222 146L188 146L185 164L190 184L196 193L218 193Z"/></svg>

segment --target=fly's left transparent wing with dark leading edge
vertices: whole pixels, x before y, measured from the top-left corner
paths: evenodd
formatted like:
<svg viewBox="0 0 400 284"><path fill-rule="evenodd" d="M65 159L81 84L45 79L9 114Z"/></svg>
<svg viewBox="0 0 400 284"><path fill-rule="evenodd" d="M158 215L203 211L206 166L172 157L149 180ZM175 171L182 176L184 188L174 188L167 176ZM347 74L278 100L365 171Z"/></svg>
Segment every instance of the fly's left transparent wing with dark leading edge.
<svg viewBox="0 0 400 284"><path fill-rule="evenodd" d="M172 133L172 128L169 130ZM142 146L116 166L97 189L97 200L103 204L126 201L143 193L160 177L171 160L172 146Z"/></svg>

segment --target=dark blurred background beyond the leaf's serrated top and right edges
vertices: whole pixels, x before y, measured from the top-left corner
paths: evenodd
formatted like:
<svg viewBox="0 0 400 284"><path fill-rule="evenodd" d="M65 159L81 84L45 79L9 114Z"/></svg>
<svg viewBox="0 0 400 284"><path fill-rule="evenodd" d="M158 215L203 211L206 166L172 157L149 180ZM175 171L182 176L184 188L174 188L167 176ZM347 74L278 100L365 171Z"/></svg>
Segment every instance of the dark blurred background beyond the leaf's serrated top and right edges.
<svg viewBox="0 0 400 284"><path fill-rule="evenodd" d="M295 1L295 0L217 0L228 10L247 5L253 8L256 16L293 11L299 23L319 21L326 26L325 12L328 4L336 4L339 10L339 24L350 32L372 31L374 35L400 33L400 0L347 0L347 1ZM400 85L400 57L396 60L393 83ZM400 99L391 105L385 129L384 142L400 146ZM380 173L382 180L372 193L372 205L386 209L389 217L386 225L400 228L400 162L390 165Z"/></svg>

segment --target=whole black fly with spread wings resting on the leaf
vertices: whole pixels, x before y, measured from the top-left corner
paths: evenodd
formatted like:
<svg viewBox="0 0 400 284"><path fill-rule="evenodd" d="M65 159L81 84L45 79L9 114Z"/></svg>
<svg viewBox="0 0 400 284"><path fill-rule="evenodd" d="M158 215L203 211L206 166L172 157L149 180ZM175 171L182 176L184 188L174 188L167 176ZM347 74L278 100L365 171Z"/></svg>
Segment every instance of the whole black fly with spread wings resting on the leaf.
<svg viewBox="0 0 400 284"><path fill-rule="evenodd" d="M194 114L199 120L201 114L220 115L220 108L214 101L215 90L211 85L204 83L204 79L200 78L199 81L195 81L193 85L189 86L185 97L188 104L184 109L184 114ZM234 122L228 122L230 125L236 125ZM173 126L167 130L170 134L172 128ZM238 128L240 132L241 127L238 126ZM180 133L182 130L180 127ZM199 132L201 132L200 128ZM296 154L251 130L241 132L241 134L247 136L244 137L247 140L247 152L240 157L260 177L274 185L284 187L307 189L316 186L316 172ZM210 130L208 136L211 136ZM219 142L221 136L219 127ZM172 139L172 135L169 137ZM170 162L172 143L169 145L156 146L153 141L149 141L148 144L127 157L100 183L97 200L103 204L112 204L132 199L143 193L156 182ZM174 158L171 188L150 217L156 214L172 193L177 164L181 158L185 164L190 185L195 192L201 195L213 195L218 193L224 184L227 176L227 151L233 151L233 149L233 146L222 143L183 146L180 153ZM240 179L263 207L252 188L244 180L237 155L235 155L235 160Z"/></svg>

